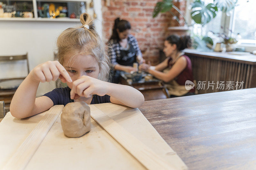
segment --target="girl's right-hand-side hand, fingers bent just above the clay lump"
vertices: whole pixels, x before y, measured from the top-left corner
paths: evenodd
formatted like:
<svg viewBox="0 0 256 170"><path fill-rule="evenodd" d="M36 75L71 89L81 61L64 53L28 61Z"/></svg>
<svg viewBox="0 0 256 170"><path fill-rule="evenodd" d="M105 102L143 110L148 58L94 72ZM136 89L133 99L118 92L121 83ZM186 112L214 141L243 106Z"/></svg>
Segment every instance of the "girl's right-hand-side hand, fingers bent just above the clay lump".
<svg viewBox="0 0 256 170"><path fill-rule="evenodd" d="M78 99L80 96L90 97L91 95L104 96L107 94L108 82L83 75L72 84L70 91L71 99Z"/></svg>

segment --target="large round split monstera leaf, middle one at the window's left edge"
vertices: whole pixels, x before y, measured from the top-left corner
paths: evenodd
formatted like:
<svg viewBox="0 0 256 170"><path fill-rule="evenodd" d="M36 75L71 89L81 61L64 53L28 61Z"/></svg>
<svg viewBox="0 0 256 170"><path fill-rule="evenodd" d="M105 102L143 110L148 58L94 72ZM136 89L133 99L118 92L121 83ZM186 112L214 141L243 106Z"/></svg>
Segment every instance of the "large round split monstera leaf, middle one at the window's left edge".
<svg viewBox="0 0 256 170"><path fill-rule="evenodd" d="M201 0L196 0L192 4L191 17L197 24L206 24L216 17L218 8L216 5L210 3L204 5L204 2Z"/></svg>

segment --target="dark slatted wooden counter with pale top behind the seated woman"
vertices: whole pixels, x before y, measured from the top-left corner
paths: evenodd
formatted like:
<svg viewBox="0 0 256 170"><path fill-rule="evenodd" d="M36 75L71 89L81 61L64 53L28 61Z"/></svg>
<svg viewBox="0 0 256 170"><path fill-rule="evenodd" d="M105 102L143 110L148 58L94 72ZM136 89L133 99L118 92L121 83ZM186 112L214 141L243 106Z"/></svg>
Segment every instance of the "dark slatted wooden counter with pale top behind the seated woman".
<svg viewBox="0 0 256 170"><path fill-rule="evenodd" d="M256 87L256 55L234 55L218 52L198 52L184 50L191 59L193 76L198 81L238 81L244 82L243 89ZM198 89L198 94L227 91L232 89Z"/></svg>

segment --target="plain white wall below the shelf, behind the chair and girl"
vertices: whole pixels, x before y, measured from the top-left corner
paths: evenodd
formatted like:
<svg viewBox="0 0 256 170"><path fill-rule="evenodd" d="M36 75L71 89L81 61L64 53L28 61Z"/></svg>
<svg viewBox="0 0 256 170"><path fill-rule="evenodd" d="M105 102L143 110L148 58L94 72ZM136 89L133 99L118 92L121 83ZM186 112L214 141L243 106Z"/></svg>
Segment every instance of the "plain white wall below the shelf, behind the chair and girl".
<svg viewBox="0 0 256 170"><path fill-rule="evenodd" d="M0 55L28 52L29 69L53 60L58 35L78 22L0 21ZM0 78L27 74L25 62L0 63ZM22 69L23 68L23 69ZM55 88L54 82L40 83L37 96Z"/></svg>

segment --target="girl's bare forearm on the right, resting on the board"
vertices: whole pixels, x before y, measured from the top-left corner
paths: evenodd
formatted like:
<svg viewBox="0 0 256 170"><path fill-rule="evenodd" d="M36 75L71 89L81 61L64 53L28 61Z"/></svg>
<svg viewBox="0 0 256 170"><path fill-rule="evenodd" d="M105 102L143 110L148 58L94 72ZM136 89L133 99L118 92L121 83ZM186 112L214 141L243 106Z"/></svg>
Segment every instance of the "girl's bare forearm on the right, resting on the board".
<svg viewBox="0 0 256 170"><path fill-rule="evenodd" d="M107 95L132 108L140 107L144 103L144 96L131 86L108 83Z"/></svg>

